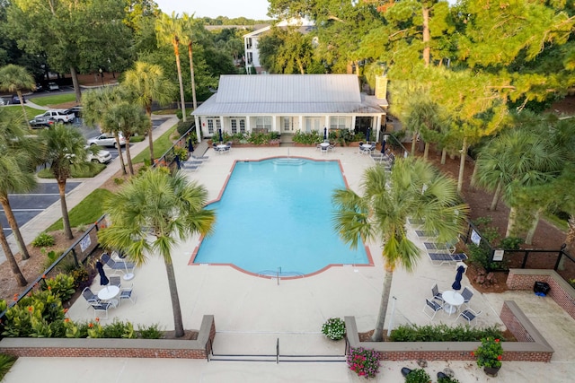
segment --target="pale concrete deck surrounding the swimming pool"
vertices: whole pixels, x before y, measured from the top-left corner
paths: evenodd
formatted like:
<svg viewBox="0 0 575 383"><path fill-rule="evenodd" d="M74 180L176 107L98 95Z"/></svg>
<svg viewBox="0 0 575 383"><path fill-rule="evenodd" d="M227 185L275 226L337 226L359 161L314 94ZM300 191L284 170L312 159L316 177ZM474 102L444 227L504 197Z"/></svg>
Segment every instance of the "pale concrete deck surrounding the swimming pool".
<svg viewBox="0 0 575 383"><path fill-rule="evenodd" d="M358 148L336 148L322 154L314 148L233 148L229 153L217 154L209 149L209 160L199 170L183 170L190 180L197 180L208 190L210 200L217 199L234 161L256 160L277 156L305 157L318 160L339 160L349 187L358 191L363 170L374 162L360 154ZM241 222L239 222L241 224ZM281 228L278 228L281 232ZM429 324L423 313L425 298L431 286L438 283L440 290L449 290L456 270L454 266L431 265L423 252L423 242L413 231L411 239L422 249L420 262L413 273L398 268L394 273L386 325L395 327L412 323ZM294 239L295 241L297 239ZM282 353L343 353L344 344L327 341L321 326L327 318L354 316L360 332L372 329L383 281L383 264L379 243L370 243L374 266L332 266L319 274L305 278L277 281L242 273L226 265L188 265L199 238L180 243L173 250L173 263L181 300L185 328L199 328L201 318L215 316L217 335L216 353L275 353L279 339ZM234 251L234 244L229 244ZM94 281L93 290L101 286ZM151 257L136 270L136 277L123 285L134 283L133 305L125 301L118 309L111 309L111 318L129 320L137 324L160 324L173 329L172 307L163 261ZM464 275L462 285L469 286ZM575 375L571 358L575 335L575 321L553 300L536 297L529 292L482 294L475 292L471 306L482 310L480 324L501 324L499 319L503 300L516 300L521 309L539 328L553 346L551 363L505 362L499 381L567 381ZM86 309L79 299L68 311L73 320L93 319L93 310ZM112 319L107 322L111 322ZM456 314L439 312L434 323L453 323ZM103 321L104 323L106 321ZM417 368L414 361L382 362L380 374L373 381L403 381L401 367ZM21 358L7 383L35 381L84 383L102 381L102 367L107 379L121 382L194 381L194 382L356 382L358 379L345 363L264 363L240 361L142 360L129 358ZM461 383L494 381L487 378L474 363L463 361L432 361L426 369L435 381L438 370L449 367ZM47 379L47 371L53 380ZM64 372L66 371L66 372Z"/></svg>

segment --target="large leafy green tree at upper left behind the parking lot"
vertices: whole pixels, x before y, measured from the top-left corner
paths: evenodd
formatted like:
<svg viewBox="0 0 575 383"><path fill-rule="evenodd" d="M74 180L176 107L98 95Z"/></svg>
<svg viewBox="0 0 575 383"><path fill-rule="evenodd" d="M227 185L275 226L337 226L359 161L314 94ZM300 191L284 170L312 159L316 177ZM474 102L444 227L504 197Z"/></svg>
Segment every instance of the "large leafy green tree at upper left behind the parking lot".
<svg viewBox="0 0 575 383"><path fill-rule="evenodd" d="M117 0L15 0L8 6L7 31L19 48L45 55L52 71L69 72L79 102L78 73L121 70L128 63L125 8L126 2Z"/></svg>

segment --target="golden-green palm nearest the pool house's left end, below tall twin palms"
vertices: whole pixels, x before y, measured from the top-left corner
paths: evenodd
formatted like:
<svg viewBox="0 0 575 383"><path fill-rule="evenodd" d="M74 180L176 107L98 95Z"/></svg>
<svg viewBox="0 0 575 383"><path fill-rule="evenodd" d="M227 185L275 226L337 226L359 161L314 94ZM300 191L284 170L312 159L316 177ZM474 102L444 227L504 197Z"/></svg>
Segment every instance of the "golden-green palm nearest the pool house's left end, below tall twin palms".
<svg viewBox="0 0 575 383"><path fill-rule="evenodd" d="M150 119L147 138L150 147L150 159L154 163L154 138L152 137L152 102L166 105L173 100L173 83L164 78L160 65L136 62L136 67L126 72L124 84L132 99L142 108Z"/></svg>

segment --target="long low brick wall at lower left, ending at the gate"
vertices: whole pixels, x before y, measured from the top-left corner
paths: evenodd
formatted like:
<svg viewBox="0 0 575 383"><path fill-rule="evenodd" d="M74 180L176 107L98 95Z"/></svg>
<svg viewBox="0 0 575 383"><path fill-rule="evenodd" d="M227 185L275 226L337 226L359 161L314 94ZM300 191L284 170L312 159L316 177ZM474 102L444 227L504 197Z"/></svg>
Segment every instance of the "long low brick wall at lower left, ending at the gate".
<svg viewBox="0 0 575 383"><path fill-rule="evenodd" d="M207 359L216 336L213 315L205 315L198 339L4 338L0 353L24 357L123 357Z"/></svg>

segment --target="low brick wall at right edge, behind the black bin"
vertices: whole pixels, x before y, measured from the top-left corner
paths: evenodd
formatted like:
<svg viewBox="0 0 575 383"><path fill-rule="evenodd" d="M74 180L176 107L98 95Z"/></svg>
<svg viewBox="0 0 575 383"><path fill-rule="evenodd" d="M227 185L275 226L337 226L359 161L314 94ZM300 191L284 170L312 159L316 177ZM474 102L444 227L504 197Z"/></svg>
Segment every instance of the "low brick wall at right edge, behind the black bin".
<svg viewBox="0 0 575 383"><path fill-rule="evenodd" d="M509 269L507 287L509 290L533 291L537 281L549 283L549 296L575 319L575 290L554 270Z"/></svg>

